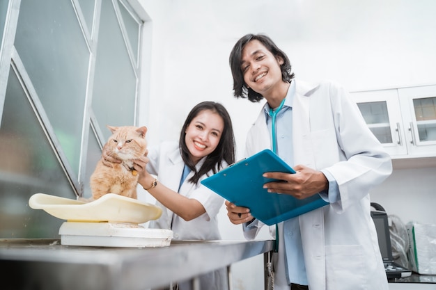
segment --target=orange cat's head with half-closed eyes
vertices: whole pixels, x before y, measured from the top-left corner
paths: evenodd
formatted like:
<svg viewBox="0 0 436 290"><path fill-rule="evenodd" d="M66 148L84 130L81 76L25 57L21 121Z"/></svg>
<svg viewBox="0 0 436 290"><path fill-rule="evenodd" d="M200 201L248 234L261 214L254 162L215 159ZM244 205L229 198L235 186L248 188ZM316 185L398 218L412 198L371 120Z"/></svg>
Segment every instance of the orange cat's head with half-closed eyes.
<svg viewBox="0 0 436 290"><path fill-rule="evenodd" d="M107 141L109 155L129 160L137 159L146 152L146 127L107 127L112 131L112 136Z"/></svg>

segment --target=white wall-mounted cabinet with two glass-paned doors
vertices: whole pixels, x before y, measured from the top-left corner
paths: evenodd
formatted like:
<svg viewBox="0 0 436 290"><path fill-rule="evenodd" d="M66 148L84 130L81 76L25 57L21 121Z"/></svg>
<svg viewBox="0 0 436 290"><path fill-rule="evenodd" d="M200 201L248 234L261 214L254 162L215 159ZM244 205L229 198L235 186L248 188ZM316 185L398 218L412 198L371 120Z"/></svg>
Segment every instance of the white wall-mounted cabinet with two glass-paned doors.
<svg viewBox="0 0 436 290"><path fill-rule="evenodd" d="M392 159L436 157L436 85L351 95Z"/></svg>

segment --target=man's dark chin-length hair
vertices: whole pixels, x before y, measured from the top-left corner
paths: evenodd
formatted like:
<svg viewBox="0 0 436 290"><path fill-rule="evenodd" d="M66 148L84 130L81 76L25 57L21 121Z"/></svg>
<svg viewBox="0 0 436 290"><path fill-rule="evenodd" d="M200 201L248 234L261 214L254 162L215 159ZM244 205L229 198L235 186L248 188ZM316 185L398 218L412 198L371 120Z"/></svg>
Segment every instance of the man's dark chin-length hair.
<svg viewBox="0 0 436 290"><path fill-rule="evenodd" d="M259 102L260 99L263 99L263 96L258 92L255 92L251 88L247 88L247 85L244 81L244 74L241 69L241 57L242 57L242 49L247 45L251 40L260 41L271 53L278 57L283 58L283 65L280 66L281 69L281 79L283 81L290 81L294 78L295 74L291 73L291 65L288 56L274 44L274 42L267 35L263 34L247 34L242 36L238 42L236 42L233 47L229 62L233 75L233 95L235 97L248 98L251 102Z"/></svg>

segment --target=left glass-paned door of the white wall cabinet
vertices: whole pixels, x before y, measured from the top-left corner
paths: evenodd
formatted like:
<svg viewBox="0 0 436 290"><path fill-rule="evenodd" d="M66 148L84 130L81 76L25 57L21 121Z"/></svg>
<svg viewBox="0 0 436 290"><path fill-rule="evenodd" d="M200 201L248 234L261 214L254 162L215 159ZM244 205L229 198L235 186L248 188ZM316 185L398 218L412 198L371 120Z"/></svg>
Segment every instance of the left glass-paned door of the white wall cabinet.
<svg viewBox="0 0 436 290"><path fill-rule="evenodd" d="M375 137L391 156L407 154L396 89L352 92L352 97Z"/></svg>

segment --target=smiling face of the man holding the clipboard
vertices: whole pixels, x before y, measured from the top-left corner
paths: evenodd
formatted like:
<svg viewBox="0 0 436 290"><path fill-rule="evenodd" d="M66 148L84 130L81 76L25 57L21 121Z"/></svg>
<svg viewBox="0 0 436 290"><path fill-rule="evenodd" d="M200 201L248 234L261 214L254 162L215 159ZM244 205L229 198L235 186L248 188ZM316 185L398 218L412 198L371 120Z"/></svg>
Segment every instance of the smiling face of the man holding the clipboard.
<svg viewBox="0 0 436 290"><path fill-rule="evenodd" d="M247 86L263 97L271 95L275 85L282 82L280 65L283 59L276 58L259 40L248 42L242 49L241 58Z"/></svg>

